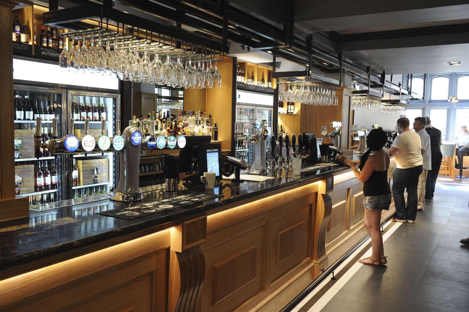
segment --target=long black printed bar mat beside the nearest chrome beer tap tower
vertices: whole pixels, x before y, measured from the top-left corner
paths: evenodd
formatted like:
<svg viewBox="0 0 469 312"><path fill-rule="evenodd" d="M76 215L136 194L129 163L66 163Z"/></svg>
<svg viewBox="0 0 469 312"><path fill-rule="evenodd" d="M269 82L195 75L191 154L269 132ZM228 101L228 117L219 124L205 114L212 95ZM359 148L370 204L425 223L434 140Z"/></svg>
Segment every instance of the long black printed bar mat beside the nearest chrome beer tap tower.
<svg viewBox="0 0 469 312"><path fill-rule="evenodd" d="M187 205L192 205L205 200L219 198L223 195L218 194L205 194L198 192L187 192L173 198L158 199L148 203L131 205L125 208L112 209L108 211L99 212L110 217L122 219L135 219L153 213L159 213L168 209L179 208Z"/></svg>

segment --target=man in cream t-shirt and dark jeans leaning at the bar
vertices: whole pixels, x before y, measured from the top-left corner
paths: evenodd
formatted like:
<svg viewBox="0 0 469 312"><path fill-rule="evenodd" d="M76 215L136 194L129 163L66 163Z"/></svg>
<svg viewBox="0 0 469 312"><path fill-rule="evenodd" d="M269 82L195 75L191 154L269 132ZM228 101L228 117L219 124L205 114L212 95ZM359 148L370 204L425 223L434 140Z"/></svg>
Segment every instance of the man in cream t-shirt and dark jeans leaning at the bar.
<svg viewBox="0 0 469 312"><path fill-rule="evenodd" d="M393 197L396 207L391 221L415 223L417 216L418 177L423 170L422 143L420 136L409 129L406 117L397 120L396 131L389 155L396 155L396 168L393 170ZM407 190L407 206L404 198Z"/></svg>

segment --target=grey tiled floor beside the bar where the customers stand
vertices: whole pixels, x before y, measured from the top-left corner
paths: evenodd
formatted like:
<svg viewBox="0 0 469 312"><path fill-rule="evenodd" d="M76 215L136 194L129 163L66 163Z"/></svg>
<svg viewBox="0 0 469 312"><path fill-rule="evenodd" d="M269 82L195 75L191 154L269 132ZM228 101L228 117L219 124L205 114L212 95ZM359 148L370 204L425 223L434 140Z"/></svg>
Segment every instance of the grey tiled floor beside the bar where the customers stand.
<svg viewBox="0 0 469 312"><path fill-rule="evenodd" d="M468 202L468 186L438 183L416 223L401 224L384 243L388 264L361 266L321 311L469 311L469 246L459 242L469 236ZM313 311L319 297L300 312Z"/></svg>

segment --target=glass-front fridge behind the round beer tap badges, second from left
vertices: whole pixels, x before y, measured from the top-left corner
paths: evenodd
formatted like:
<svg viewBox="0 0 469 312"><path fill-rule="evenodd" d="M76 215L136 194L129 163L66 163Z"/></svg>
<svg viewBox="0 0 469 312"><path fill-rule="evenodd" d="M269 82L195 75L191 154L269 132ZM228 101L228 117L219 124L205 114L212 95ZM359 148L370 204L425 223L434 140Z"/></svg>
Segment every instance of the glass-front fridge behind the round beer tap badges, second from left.
<svg viewBox="0 0 469 312"><path fill-rule="evenodd" d="M89 135L101 134L102 120L106 121L104 133L108 137L115 134L115 121L119 118L119 94L92 91L68 90L68 118L75 120L75 136L84 134L84 119L90 119ZM123 121L122 125L127 122ZM67 129L69 131L69 129ZM90 152L87 154L66 155L64 172L68 181L65 190L68 198L82 198L105 194L112 191L116 182L117 153Z"/></svg>

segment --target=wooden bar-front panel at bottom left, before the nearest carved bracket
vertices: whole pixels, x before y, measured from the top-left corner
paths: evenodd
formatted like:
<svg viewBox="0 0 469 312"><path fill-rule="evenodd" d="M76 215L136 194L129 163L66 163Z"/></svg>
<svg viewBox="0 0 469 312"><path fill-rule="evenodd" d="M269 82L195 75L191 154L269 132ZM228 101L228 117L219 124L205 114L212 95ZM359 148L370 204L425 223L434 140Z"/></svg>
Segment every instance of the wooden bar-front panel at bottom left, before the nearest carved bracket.
<svg viewBox="0 0 469 312"><path fill-rule="evenodd" d="M162 252L166 253L166 250ZM160 262L161 260L164 262ZM151 252L36 296L25 294L24 297L13 298L16 300L15 304L2 306L0 311L28 312L62 309L67 311L122 311L130 306L133 306L135 311L155 311L153 294L156 293L156 287L161 289L163 287L161 282L165 282L161 280L163 276L156 278L155 274L166 275L165 268L166 258L159 259L157 252ZM151 280L159 280L159 282L152 284ZM166 285L164 287L166 288ZM132 293L134 288L138 293ZM124 289L129 295L122 293ZM103 302L104 298L106 301ZM91 306L94 304L93 308L85 309L86 305L90 304ZM159 304L163 303L159 302ZM158 309L158 311L161 310Z"/></svg>

